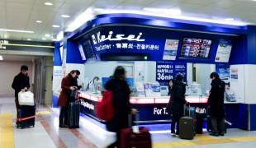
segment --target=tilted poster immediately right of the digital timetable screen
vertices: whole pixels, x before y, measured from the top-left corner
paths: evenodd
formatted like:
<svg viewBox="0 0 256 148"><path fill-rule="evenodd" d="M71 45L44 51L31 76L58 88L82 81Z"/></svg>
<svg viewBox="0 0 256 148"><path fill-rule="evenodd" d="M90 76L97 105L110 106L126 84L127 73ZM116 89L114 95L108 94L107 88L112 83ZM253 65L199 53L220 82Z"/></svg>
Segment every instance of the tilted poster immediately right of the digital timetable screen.
<svg viewBox="0 0 256 148"><path fill-rule="evenodd" d="M232 49L232 41L220 39L215 62L229 62Z"/></svg>

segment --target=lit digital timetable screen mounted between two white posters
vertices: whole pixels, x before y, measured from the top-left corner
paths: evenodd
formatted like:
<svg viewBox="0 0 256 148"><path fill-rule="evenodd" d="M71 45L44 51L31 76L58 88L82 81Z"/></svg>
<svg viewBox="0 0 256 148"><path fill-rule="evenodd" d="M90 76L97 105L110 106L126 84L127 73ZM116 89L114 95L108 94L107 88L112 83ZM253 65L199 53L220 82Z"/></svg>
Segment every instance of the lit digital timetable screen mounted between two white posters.
<svg viewBox="0 0 256 148"><path fill-rule="evenodd" d="M210 58L213 39L184 37L180 58Z"/></svg>

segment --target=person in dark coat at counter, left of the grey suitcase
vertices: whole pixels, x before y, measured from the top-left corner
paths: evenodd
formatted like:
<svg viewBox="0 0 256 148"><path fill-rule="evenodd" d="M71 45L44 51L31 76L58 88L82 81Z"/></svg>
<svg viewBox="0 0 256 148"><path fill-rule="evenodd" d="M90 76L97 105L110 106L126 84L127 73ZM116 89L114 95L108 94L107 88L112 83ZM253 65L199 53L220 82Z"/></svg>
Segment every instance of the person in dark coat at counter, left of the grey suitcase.
<svg viewBox="0 0 256 148"><path fill-rule="evenodd" d="M179 135L179 119L183 117L184 104L187 103L185 99L185 93L186 93L186 85L183 83L183 76L179 74L178 76L176 76L175 81L173 81L173 87L172 87L172 93L171 93L172 104L171 104L170 113L173 114L172 124L175 125L175 123L177 123L176 133L174 129L172 129L173 135L174 134ZM174 127L174 125L172 125L172 127Z"/></svg>

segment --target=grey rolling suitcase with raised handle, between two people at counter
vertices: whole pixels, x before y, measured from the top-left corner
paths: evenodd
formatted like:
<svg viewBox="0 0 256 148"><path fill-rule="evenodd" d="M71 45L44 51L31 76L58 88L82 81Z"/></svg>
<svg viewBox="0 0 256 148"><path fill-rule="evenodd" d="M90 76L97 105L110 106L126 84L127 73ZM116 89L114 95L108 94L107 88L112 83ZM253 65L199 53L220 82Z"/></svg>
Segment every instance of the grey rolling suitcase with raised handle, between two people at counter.
<svg viewBox="0 0 256 148"><path fill-rule="evenodd" d="M186 107L184 107L186 109ZM189 116L184 116L179 120L179 137L181 139L192 140L195 136L195 123L191 115L190 105L188 107ZM184 112L186 114L186 111Z"/></svg>

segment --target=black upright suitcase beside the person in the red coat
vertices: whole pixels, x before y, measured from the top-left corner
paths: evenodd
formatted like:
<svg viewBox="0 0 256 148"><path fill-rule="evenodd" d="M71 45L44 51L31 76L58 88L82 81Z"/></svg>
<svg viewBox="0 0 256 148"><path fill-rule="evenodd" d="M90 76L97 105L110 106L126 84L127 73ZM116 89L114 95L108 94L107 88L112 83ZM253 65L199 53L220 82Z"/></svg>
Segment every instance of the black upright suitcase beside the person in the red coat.
<svg viewBox="0 0 256 148"><path fill-rule="evenodd" d="M68 109L68 126L69 128L79 128L80 102L69 102Z"/></svg>

